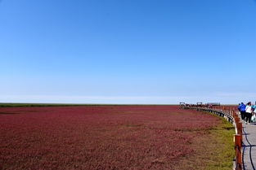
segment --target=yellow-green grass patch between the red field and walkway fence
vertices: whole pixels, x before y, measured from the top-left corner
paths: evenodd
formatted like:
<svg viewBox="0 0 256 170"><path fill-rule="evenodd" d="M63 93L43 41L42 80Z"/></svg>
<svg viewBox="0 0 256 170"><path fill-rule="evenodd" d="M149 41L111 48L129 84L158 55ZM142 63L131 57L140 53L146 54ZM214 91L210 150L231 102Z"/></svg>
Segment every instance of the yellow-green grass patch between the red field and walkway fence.
<svg viewBox="0 0 256 170"><path fill-rule="evenodd" d="M233 125L220 118L218 125L192 140L195 153L182 158L177 169L231 170L235 157L233 134Z"/></svg>

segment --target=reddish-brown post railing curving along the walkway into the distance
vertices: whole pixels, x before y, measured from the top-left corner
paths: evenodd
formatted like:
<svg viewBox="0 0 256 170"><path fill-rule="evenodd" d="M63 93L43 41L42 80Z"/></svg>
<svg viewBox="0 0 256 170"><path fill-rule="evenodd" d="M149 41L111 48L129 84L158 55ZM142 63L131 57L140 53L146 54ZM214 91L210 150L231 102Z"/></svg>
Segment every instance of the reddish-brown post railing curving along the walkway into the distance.
<svg viewBox="0 0 256 170"><path fill-rule="evenodd" d="M234 169L242 169L242 140L243 140L243 128L242 123L240 123L240 118L236 113L236 107L234 106L209 106L209 105L184 105L180 106L182 109L191 109L195 111L204 111L222 116L227 121L234 125L236 134L234 134L234 143L236 150L236 163Z"/></svg>

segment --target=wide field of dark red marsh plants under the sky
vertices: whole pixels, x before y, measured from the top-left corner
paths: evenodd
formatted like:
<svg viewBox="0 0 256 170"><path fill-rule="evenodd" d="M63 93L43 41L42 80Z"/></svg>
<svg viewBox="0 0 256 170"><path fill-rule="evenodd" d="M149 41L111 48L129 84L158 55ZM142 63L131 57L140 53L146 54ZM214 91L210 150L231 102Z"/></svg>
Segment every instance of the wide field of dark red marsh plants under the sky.
<svg viewBox="0 0 256 170"><path fill-rule="evenodd" d="M167 105L0 107L0 169L173 169L215 124Z"/></svg>

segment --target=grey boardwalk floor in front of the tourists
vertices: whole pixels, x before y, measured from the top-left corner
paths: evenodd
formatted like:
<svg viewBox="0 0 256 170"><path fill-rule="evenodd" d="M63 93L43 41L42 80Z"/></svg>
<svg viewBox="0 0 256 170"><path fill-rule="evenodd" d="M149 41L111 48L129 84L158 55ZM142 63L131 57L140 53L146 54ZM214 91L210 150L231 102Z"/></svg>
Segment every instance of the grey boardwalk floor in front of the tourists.
<svg viewBox="0 0 256 170"><path fill-rule="evenodd" d="M243 121L243 169L256 170L256 123Z"/></svg>

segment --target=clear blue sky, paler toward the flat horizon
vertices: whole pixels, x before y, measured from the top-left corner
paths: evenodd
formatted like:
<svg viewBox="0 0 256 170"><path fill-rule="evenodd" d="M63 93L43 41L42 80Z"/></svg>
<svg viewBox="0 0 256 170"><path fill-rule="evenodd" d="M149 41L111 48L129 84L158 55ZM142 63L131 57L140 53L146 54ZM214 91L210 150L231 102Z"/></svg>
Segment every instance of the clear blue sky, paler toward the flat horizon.
<svg viewBox="0 0 256 170"><path fill-rule="evenodd" d="M0 0L0 102L247 102L255 74L255 0Z"/></svg>

